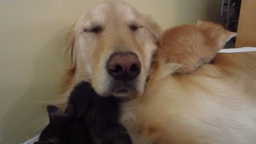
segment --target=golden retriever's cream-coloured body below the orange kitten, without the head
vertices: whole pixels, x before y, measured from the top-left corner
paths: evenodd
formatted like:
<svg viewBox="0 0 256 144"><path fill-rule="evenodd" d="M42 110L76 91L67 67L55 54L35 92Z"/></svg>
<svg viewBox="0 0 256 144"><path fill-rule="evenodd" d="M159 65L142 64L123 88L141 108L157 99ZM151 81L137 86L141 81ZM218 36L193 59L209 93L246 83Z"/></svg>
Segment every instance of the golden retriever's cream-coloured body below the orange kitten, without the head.
<svg viewBox="0 0 256 144"><path fill-rule="evenodd" d="M255 57L219 53L190 75L158 78L160 68L146 93L123 103L122 123L135 143L255 143Z"/></svg>

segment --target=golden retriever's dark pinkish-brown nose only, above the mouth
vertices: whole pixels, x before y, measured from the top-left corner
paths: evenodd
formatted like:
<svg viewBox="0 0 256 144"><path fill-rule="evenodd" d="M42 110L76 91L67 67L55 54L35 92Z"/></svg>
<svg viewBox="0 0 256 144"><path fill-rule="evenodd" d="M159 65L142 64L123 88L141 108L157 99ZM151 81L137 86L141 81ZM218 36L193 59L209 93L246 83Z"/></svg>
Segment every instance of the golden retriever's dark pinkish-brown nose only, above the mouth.
<svg viewBox="0 0 256 144"><path fill-rule="evenodd" d="M140 74L141 63L134 53L115 53L110 56L107 69L116 80L127 82Z"/></svg>

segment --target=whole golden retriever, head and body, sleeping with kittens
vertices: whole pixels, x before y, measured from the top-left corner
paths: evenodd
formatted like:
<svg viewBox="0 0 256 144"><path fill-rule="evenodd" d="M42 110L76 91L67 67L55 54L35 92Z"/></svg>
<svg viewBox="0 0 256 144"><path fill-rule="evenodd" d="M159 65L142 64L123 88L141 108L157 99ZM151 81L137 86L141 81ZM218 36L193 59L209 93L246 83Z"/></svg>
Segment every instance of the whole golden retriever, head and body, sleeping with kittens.
<svg viewBox="0 0 256 144"><path fill-rule="evenodd" d="M171 75L161 29L120 1L103 2L76 23L67 48L65 97L82 80L122 103L133 143L256 143L255 53L219 53L189 75Z"/></svg>

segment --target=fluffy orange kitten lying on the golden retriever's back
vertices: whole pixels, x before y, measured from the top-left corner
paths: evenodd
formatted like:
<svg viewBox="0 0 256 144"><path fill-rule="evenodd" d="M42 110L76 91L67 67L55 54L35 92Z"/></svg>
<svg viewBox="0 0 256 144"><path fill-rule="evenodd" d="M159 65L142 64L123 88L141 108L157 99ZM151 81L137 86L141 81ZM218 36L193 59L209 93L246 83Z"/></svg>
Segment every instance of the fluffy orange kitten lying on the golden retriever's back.
<svg viewBox="0 0 256 144"><path fill-rule="evenodd" d="M236 33L213 22L197 21L197 25L182 25L164 31L161 47L166 62L182 65L178 74L187 74L209 63Z"/></svg>

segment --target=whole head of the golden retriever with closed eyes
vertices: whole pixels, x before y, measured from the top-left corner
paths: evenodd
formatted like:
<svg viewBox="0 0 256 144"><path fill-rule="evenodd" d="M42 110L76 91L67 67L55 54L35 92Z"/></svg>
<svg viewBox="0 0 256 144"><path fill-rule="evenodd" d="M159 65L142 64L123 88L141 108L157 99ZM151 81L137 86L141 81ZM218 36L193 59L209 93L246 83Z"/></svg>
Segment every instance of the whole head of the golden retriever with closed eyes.
<svg viewBox="0 0 256 144"><path fill-rule="evenodd" d="M102 96L142 94L160 33L157 23L129 4L95 5L67 44L74 83L88 81Z"/></svg>

